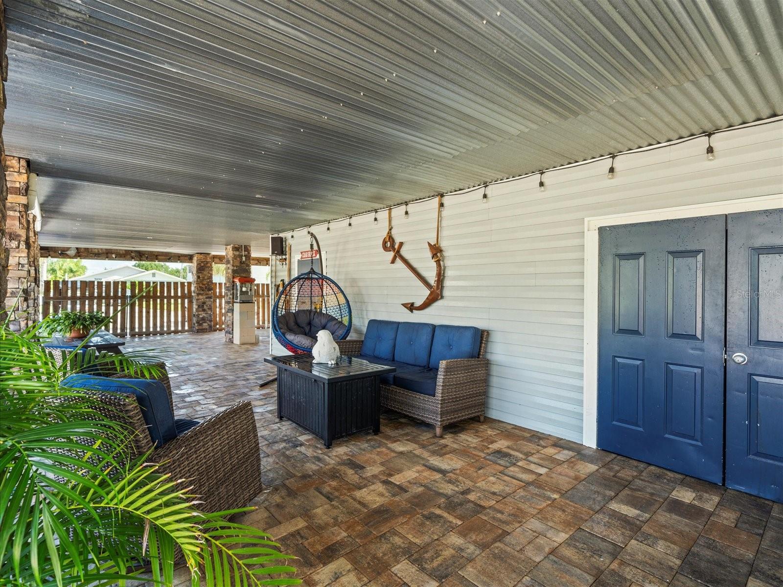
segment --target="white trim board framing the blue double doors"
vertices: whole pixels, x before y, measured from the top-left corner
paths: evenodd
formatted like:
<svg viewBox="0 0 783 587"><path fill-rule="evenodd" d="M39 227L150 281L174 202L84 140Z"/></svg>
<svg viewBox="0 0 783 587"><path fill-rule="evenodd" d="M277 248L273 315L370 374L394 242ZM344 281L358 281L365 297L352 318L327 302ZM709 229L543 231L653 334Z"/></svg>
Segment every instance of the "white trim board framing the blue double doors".
<svg viewBox="0 0 783 587"><path fill-rule="evenodd" d="M651 222L672 218L693 218L714 214L735 214L783 207L783 193L770 196L723 200L691 206L661 208L628 214L585 218L585 296L584 296L584 394L582 442L597 444L598 405L598 229L601 226Z"/></svg>

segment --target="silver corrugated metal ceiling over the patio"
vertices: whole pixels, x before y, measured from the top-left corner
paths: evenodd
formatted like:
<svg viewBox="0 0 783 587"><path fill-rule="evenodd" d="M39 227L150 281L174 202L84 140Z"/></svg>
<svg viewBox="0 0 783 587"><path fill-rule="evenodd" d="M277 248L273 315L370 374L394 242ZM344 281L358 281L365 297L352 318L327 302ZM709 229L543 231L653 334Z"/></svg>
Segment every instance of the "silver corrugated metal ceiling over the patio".
<svg viewBox="0 0 783 587"><path fill-rule="evenodd" d="M42 177L42 243L262 252L269 232L781 114L781 7L9 0L6 147Z"/></svg>

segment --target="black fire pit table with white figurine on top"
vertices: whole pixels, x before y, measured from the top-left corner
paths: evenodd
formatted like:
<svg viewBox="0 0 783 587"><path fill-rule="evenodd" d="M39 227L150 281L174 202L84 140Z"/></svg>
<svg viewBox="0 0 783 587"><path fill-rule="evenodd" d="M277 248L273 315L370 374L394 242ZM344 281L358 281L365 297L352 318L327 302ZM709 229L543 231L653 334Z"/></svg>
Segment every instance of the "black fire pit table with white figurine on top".
<svg viewBox="0 0 783 587"><path fill-rule="evenodd" d="M335 438L381 431L381 383L394 367L340 357L337 365L312 362L312 355L267 357L277 367L277 417L309 430L330 448Z"/></svg>

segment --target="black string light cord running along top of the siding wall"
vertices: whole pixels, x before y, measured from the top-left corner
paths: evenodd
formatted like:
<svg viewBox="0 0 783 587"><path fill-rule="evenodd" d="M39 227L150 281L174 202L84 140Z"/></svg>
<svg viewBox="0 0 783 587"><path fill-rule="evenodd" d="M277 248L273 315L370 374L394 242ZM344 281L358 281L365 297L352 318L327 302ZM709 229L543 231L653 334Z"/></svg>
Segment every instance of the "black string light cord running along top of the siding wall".
<svg viewBox="0 0 783 587"><path fill-rule="evenodd" d="M485 186L501 185L501 184L509 183L509 182L518 182L518 181L520 181L522 179L535 177L536 175L539 175L539 178L543 179L543 174L551 173L552 171L565 171L567 169L576 169L576 167L583 167L584 165L591 165L591 164L594 164L594 163L598 163L599 161L609 161L609 160L613 161L616 157L619 157L620 155L626 156L626 155L633 155L633 154L636 154L636 153L648 153L648 152L655 151L655 150L658 150L658 149L666 149L668 147L682 145L685 142L695 141L697 139L704 139L705 137L708 138L708 142L710 142L709 147L711 147L712 144L711 144L711 140L710 139L712 139L712 137L714 137L715 135L720 135L720 134L723 134L724 132L740 131L740 130L744 130L746 128L756 128L756 127L760 127L760 126L766 126L767 124L776 124L776 123L778 123L778 124L779 123L783 123L783 117L779 117L778 116L778 117L774 117L773 119L767 120L767 121L750 122L748 124L741 124L739 126L733 126L731 128L722 128L719 131L700 132L698 135L691 135L691 136L688 136L688 137L684 137L683 139L675 139L673 141L665 142L665 143L662 143L660 145L651 145L651 146L639 147L637 149L628 149L626 151L620 151L619 153L612 153L611 155L604 155L603 157L594 157L594 158L588 159L588 160L575 161L574 163L561 165L560 167L551 167L550 169L544 169L543 171L532 171L530 173L525 173L523 175L512 175L511 177L498 179L498 180L493 181L493 182L482 182L482 183L479 183L477 185L471 185L471 187L455 189L455 190L450 191L450 192L445 192L445 193L444 192L438 192L438 193L432 194L431 196L424 196L424 197L418 198L416 200L407 200L406 202L394 203L394 204L391 204L391 206L388 206L388 208L391 209L391 210L394 210L395 208L408 206L411 203L424 203L424 202L428 202L430 200L435 200L438 197L445 198L447 196L463 196L463 195L468 194L468 193L474 193L474 192L478 192L481 189L485 189ZM708 153L708 155L709 154L710 153ZM712 154L713 154L713 158L714 158L714 149L712 151ZM540 189L540 185L539 185L539 189ZM359 212L358 214L351 214L350 216L341 216L339 218L332 218L331 220L328 220L328 221L324 220L324 221L321 221L318 224L316 224L316 226L324 225L324 224L327 224L329 222L336 222L336 221L340 221L340 220L345 220L346 218L355 218L357 216L366 216L367 214L375 214L375 213L377 213L377 208L373 208L372 210ZM302 227L300 227L298 229L292 229L290 232L293 233L293 232L296 232L298 230L306 230L306 229L307 229L306 226L302 226ZM281 232L284 233L284 232L288 232L288 231L281 231ZM278 232L277 234L280 234L281 232Z"/></svg>

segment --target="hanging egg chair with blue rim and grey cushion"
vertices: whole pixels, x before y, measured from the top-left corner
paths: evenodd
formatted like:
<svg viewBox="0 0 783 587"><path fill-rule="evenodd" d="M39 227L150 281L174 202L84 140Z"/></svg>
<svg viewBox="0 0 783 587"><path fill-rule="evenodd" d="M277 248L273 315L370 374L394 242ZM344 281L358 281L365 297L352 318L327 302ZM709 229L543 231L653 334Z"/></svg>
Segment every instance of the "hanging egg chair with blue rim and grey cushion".
<svg viewBox="0 0 783 587"><path fill-rule="evenodd" d="M280 291L272 306L272 333L287 351L300 355L312 350L319 330L328 330L334 340L348 338L351 304L341 287L311 264Z"/></svg>

